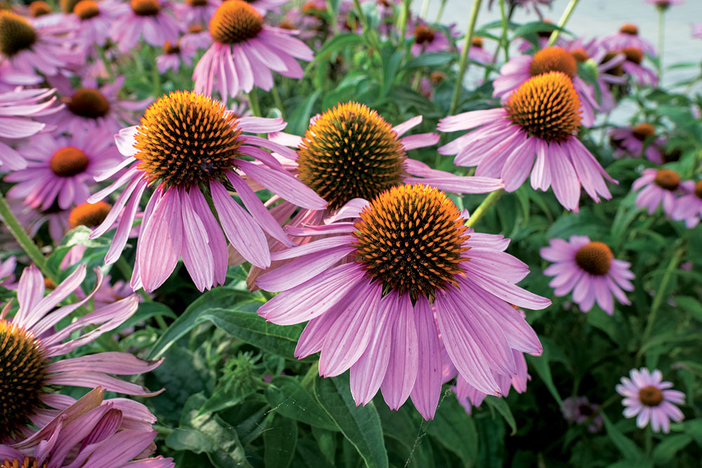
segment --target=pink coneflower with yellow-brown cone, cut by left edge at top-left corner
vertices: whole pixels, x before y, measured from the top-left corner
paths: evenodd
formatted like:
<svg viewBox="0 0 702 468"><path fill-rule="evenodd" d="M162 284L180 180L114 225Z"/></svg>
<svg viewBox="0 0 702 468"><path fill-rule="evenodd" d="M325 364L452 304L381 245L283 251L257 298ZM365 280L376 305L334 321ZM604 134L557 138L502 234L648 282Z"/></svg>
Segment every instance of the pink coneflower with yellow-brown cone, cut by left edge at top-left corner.
<svg viewBox="0 0 702 468"><path fill-rule="evenodd" d="M0 10L0 62L15 72L54 76L79 62L74 25L32 25L17 13Z"/></svg>

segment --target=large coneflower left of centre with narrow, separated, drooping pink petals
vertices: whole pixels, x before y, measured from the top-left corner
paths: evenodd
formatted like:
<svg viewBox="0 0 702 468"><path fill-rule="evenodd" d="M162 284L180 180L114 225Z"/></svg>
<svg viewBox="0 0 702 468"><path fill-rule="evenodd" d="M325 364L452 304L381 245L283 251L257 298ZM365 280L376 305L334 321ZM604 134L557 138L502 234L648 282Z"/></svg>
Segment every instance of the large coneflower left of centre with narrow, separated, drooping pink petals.
<svg viewBox="0 0 702 468"><path fill-rule="evenodd" d="M137 244L131 280L134 289L143 286L152 291L160 286L181 255L199 290L222 284L227 273L225 235L253 265L270 265L262 228L282 241L286 235L242 175L303 208L326 206L261 149L286 151L285 147L241 133L268 133L285 126L283 119L237 118L221 102L191 91L175 91L159 98L146 109L140 125L124 128L116 135L124 159L100 179L121 168L127 171L88 199L95 203L126 184L110 215L91 234L93 238L105 234L122 215L105 262L109 265L119 258L141 196L152 185L154 194L147 204ZM232 199L228 189L237 192L246 210ZM211 196L221 227L205 194Z"/></svg>

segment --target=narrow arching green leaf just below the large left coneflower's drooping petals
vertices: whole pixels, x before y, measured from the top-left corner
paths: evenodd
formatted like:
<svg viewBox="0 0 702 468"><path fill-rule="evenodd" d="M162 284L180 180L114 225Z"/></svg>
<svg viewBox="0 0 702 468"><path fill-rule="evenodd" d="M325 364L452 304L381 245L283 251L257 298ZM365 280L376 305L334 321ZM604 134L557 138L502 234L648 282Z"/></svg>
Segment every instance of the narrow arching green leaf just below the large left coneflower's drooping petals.
<svg viewBox="0 0 702 468"><path fill-rule="evenodd" d="M176 321L171 323L166 333L161 335L152 347L149 359L159 359L163 356L173 343L180 340L197 325L197 318L204 312L218 307L231 307L232 304L246 300L251 300L250 294L232 288L220 287L204 293L187 306L185 312Z"/></svg>

